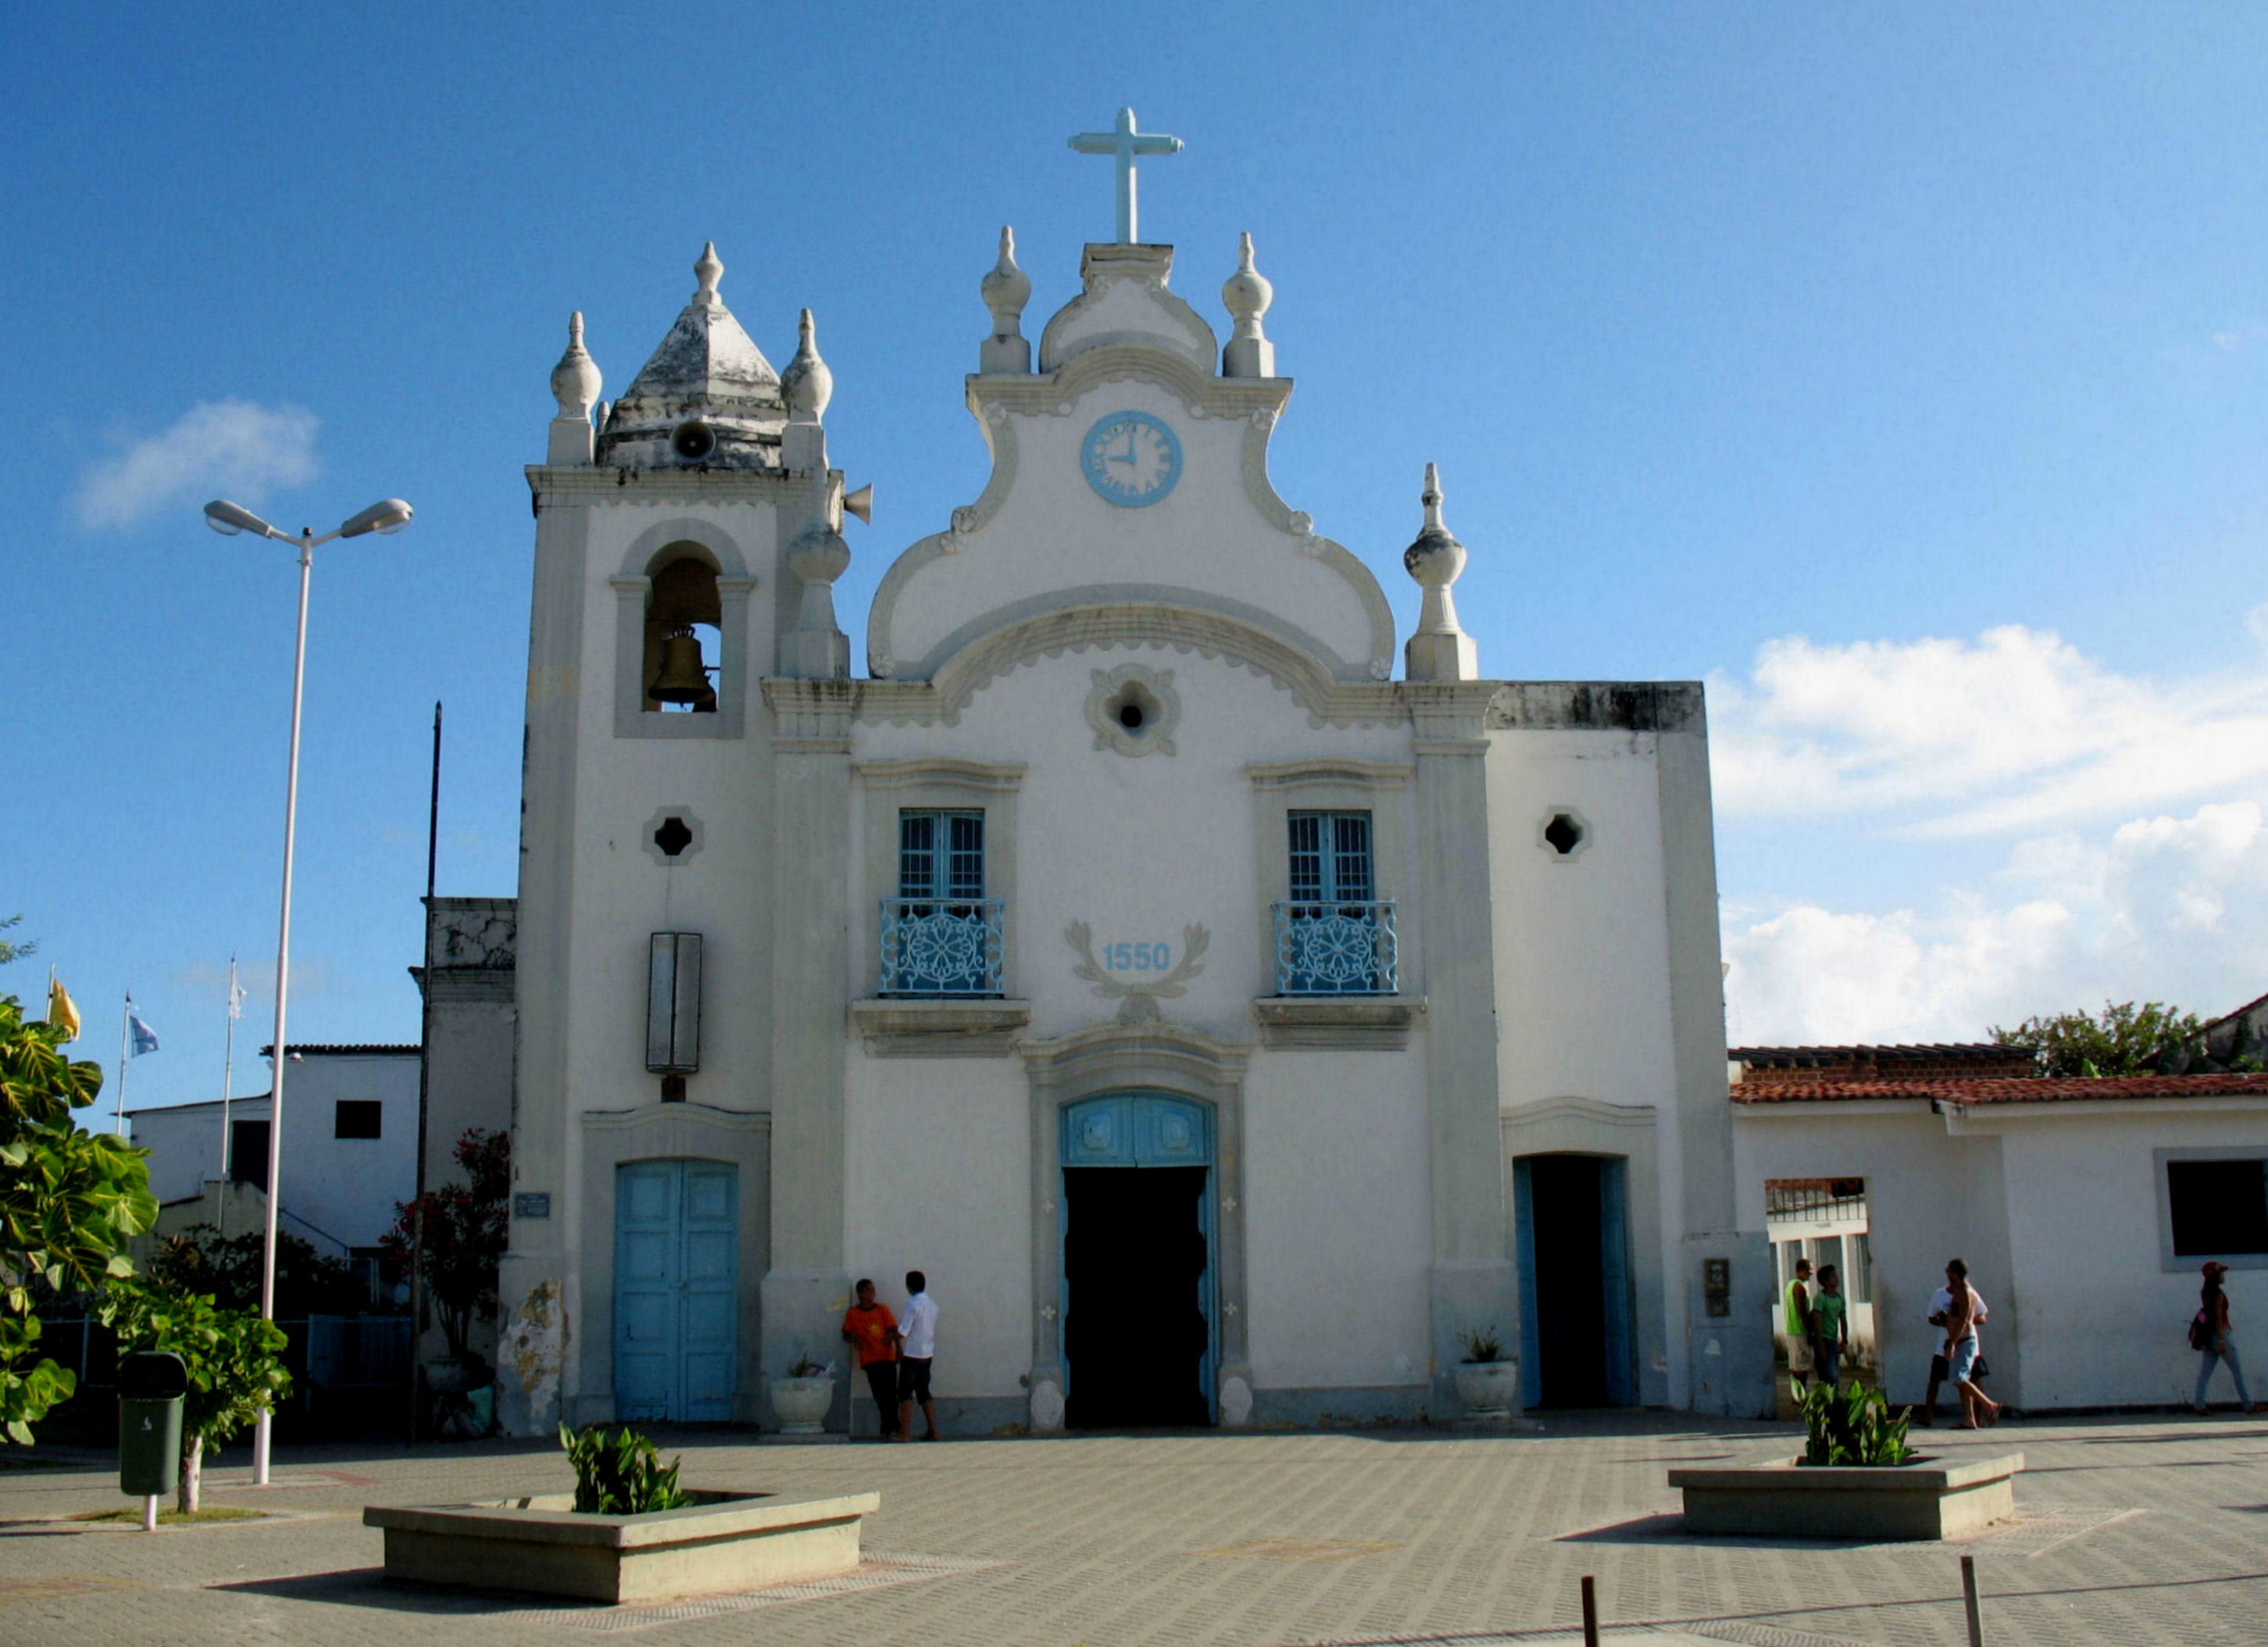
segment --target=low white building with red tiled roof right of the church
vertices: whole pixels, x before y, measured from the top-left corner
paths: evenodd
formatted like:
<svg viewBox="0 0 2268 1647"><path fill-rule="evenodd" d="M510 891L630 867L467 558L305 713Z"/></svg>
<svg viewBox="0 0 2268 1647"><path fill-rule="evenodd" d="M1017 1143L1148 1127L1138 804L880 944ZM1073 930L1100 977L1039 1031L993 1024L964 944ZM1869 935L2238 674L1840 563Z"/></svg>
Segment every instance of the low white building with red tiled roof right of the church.
<svg viewBox="0 0 2268 1647"><path fill-rule="evenodd" d="M1735 1078L1733 1114L1742 1207L1767 1207L1771 1184L1864 1184L1894 1402L1923 1395L1928 1298L1953 1257L1991 1309L1989 1388L2025 1409L2189 1402L2207 1259L2234 1270L2239 1348L2268 1354L2268 1075L1771 1071Z"/></svg>

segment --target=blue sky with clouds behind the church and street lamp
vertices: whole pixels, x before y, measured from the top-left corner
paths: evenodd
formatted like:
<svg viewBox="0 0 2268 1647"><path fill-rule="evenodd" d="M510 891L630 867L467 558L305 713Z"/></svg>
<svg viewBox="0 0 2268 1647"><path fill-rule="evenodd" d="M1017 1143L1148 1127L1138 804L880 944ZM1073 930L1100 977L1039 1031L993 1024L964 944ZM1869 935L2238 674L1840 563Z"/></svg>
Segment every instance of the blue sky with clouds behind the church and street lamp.
<svg viewBox="0 0 2268 1647"><path fill-rule="evenodd" d="M222 16L225 20L215 20ZM2268 11L1814 5L32 9L0 64L16 730L0 914L132 1100L265 1039L290 551L318 551L293 1039L408 1041L440 880L510 892L567 311L619 390L714 238L873 481L839 606L984 481L978 279L1252 231L1295 508L1397 563L1438 461L1483 669L1708 678L1742 1039L2268 989ZM855 649L862 656L862 647ZM256 1089L245 1059L240 1089Z"/></svg>

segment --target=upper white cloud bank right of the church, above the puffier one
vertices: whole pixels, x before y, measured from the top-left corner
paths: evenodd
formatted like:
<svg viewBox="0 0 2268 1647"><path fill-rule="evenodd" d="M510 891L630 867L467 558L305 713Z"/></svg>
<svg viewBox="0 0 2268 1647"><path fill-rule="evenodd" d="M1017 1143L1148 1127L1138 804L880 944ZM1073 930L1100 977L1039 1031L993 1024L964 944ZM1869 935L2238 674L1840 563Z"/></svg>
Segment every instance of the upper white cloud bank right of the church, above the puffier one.
<svg viewBox="0 0 2268 1647"><path fill-rule="evenodd" d="M2245 626L2268 640L2268 613ZM1980 835L2268 794L2268 667L2146 681L2053 631L1978 640L1767 642L1710 681L1726 817L1871 812L1910 835Z"/></svg>

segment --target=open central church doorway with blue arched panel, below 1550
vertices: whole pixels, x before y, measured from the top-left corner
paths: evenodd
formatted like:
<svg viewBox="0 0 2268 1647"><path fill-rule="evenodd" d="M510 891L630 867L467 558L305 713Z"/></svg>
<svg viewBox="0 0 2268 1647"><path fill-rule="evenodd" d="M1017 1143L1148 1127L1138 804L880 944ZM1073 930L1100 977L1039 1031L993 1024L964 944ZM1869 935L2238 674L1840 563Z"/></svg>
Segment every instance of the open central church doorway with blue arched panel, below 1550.
<svg viewBox="0 0 2268 1647"><path fill-rule="evenodd" d="M1213 1109L1132 1091L1061 1114L1066 1420L1211 1425Z"/></svg>

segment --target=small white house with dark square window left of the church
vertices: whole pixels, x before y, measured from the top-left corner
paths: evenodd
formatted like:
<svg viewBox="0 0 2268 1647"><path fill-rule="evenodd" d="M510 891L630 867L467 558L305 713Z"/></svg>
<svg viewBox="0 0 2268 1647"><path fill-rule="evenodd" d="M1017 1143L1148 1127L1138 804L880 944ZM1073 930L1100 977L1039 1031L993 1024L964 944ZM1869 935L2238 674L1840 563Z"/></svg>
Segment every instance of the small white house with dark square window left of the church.
<svg viewBox="0 0 2268 1647"><path fill-rule="evenodd" d="M417 1048L295 1046L290 1057L277 1221L324 1257L367 1259L395 1202L415 1191ZM209 1180L268 1186L268 1093L231 1098L225 1130L218 1100L129 1109L127 1118L134 1143L150 1150L161 1207L204 1198Z"/></svg>

